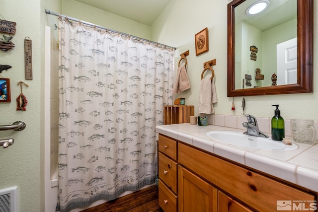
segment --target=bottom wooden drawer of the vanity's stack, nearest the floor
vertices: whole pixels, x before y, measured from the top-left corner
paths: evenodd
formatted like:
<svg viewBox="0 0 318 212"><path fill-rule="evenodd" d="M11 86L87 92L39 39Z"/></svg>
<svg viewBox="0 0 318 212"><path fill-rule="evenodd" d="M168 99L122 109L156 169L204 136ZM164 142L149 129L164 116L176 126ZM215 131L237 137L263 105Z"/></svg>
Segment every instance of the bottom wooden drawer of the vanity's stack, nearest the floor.
<svg viewBox="0 0 318 212"><path fill-rule="evenodd" d="M178 197L159 179L159 206L164 212L176 212Z"/></svg>

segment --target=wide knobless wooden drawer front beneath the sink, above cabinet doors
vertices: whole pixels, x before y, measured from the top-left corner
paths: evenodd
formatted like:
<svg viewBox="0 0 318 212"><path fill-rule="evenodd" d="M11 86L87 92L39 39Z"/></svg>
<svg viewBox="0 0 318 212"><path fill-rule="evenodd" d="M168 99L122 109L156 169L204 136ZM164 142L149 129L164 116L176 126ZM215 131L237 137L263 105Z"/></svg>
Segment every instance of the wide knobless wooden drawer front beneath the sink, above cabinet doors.
<svg viewBox="0 0 318 212"><path fill-rule="evenodd" d="M277 211L277 201L315 200L313 194L182 143L178 143L178 162L257 211ZM307 203L306 208L310 208Z"/></svg>

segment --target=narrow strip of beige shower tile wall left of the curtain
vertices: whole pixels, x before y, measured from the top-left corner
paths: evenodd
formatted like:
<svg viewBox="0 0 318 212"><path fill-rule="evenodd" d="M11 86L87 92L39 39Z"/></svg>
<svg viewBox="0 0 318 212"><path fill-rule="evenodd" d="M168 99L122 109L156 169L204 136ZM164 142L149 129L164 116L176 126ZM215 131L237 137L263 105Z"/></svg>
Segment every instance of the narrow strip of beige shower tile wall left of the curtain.
<svg viewBox="0 0 318 212"><path fill-rule="evenodd" d="M51 132L50 132L50 176L51 179L58 178L58 146L59 146L59 46L54 36L55 30L51 28L51 64L50 64L50 72L51 72L51 80L50 80L50 124L51 124Z"/></svg>

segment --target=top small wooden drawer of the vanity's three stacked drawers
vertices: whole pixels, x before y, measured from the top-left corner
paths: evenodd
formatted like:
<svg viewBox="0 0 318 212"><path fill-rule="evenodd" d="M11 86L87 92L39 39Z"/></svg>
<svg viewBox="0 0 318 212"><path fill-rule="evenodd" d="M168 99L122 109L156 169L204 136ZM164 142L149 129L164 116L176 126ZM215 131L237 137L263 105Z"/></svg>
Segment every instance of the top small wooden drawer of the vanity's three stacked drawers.
<svg viewBox="0 0 318 212"><path fill-rule="evenodd" d="M177 160L177 142L159 134L158 149L165 155Z"/></svg>

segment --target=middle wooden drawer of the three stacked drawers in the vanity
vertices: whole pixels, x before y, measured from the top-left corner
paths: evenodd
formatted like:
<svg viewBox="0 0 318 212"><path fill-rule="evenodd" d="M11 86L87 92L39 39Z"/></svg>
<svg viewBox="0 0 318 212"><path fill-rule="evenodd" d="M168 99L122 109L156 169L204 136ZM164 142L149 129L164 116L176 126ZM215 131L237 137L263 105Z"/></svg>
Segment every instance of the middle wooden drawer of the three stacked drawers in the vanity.
<svg viewBox="0 0 318 212"><path fill-rule="evenodd" d="M177 193L178 164L159 152L159 179Z"/></svg>

